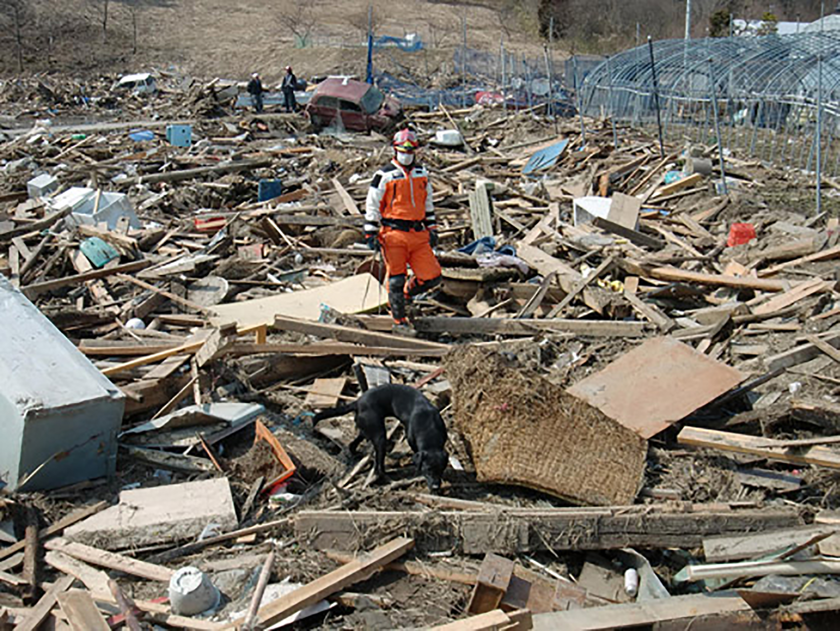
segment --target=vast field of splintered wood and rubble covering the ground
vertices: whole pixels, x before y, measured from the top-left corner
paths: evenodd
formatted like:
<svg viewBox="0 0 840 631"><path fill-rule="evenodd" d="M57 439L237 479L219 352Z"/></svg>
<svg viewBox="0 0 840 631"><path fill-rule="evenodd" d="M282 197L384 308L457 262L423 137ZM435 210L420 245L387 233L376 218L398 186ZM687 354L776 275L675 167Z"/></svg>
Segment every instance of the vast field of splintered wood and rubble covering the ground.
<svg viewBox="0 0 840 631"><path fill-rule="evenodd" d="M817 215L801 176L731 155L724 196L714 147L620 128L616 148L604 121L584 139L539 110L409 112L444 283L401 337L362 246L387 139L281 115L193 121L171 145L162 121L212 87L163 95L153 124L0 143L0 272L125 400L113 479L0 499L0 628L836 615L832 191ZM89 213L56 202L74 188ZM389 382L443 411L440 496L398 423L378 483L346 452L352 418L309 422ZM186 566L209 611L178 610Z"/></svg>

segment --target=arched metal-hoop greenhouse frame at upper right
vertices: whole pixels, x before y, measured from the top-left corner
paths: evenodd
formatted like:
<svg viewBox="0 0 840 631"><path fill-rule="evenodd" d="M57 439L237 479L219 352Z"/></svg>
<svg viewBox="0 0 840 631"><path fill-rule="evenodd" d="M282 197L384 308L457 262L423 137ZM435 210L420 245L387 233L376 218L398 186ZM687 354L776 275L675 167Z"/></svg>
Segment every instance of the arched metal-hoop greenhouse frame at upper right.
<svg viewBox="0 0 840 631"><path fill-rule="evenodd" d="M585 114L658 127L669 141L818 177L840 170L837 31L643 45L601 63L582 92Z"/></svg>

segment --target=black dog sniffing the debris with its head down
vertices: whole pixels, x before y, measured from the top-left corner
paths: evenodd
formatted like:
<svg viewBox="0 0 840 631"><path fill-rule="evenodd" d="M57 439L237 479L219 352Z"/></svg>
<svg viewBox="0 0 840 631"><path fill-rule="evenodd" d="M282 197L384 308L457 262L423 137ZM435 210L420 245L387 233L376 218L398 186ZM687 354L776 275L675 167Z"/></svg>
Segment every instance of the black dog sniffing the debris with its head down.
<svg viewBox="0 0 840 631"><path fill-rule="evenodd" d="M446 425L435 408L419 391L409 386L387 384L376 386L365 392L352 403L319 412L312 418L312 425L324 418L333 418L354 412L359 435L349 444L351 454L362 439L370 440L375 451L375 472L381 479L385 476L385 452L387 440L385 419L397 418L406 429L408 444L414 452L417 472L426 478L429 489L440 488L441 477L449 462L444 445Z"/></svg>

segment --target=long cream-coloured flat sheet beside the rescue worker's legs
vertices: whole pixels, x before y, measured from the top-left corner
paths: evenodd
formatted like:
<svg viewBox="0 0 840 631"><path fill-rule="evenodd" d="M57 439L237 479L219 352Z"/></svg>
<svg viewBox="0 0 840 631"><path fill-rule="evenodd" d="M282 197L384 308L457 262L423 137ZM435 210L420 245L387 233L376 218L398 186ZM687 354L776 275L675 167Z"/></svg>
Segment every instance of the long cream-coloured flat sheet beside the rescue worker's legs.
<svg viewBox="0 0 840 631"><path fill-rule="evenodd" d="M387 302L388 292L374 276L358 274L314 289L220 304L213 308L216 317L211 318L211 322L214 326L235 322L240 327L247 327L273 324L276 315L317 320L321 315L322 304L341 313L365 313L384 307Z"/></svg>

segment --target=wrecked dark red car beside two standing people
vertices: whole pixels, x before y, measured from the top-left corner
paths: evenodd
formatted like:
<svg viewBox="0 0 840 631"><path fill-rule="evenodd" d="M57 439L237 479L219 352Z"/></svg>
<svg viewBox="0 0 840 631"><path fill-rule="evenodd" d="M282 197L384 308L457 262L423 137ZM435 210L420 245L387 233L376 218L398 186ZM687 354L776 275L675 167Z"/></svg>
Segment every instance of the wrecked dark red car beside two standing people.
<svg viewBox="0 0 840 631"><path fill-rule="evenodd" d="M402 104L396 98L369 83L343 77L318 83L304 111L316 129L340 124L356 131L388 131L402 118Z"/></svg>

